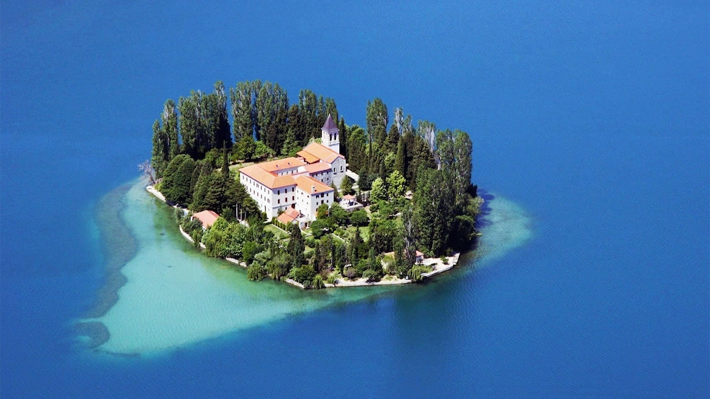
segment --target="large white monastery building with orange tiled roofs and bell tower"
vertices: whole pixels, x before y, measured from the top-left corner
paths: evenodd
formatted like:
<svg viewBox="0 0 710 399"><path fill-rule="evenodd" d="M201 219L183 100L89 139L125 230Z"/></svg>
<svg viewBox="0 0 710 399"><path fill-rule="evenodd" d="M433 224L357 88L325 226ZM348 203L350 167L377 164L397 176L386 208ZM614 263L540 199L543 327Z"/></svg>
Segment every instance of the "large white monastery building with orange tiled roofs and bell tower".
<svg viewBox="0 0 710 399"><path fill-rule="evenodd" d="M316 209L331 206L334 189L340 185L347 164L339 154L339 130L328 116L322 128L322 144L312 142L298 152L298 157L276 159L239 169L239 181L256 201L259 209L271 219L279 210L294 208L302 215L300 225L315 220Z"/></svg>

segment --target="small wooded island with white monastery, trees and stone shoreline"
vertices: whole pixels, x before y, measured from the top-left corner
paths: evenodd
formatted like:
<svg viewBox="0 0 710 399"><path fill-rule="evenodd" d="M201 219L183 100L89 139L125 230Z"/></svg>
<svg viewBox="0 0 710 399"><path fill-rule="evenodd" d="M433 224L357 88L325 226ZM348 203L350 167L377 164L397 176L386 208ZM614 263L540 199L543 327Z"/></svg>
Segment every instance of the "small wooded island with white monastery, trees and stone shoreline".
<svg viewBox="0 0 710 399"><path fill-rule="evenodd" d="M270 82L168 99L141 164L208 257L300 288L423 281L451 269L479 233L471 140L381 99L366 126L333 99Z"/></svg>

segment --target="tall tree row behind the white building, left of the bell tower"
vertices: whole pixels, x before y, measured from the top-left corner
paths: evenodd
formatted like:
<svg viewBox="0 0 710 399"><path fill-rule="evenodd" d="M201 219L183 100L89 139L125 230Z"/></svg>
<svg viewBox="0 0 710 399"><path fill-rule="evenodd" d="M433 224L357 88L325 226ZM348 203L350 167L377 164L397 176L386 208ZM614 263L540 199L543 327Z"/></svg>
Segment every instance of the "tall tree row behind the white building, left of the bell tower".
<svg viewBox="0 0 710 399"><path fill-rule="evenodd" d="M320 137L329 113L339 118L334 99L303 89L298 102L290 105L285 89L261 80L229 88L229 103L228 113L222 82L215 83L210 94L192 91L177 105L165 101L162 115L153 123L151 164L158 179L179 154L210 162L219 158L223 148L231 150L233 160L293 155L312 137Z"/></svg>

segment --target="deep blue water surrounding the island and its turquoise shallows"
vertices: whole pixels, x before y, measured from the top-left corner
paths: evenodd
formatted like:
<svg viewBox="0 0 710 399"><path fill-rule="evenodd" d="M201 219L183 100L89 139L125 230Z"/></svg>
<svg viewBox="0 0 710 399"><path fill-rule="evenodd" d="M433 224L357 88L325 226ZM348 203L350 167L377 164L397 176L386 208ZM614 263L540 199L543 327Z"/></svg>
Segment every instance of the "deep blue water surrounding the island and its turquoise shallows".
<svg viewBox="0 0 710 399"><path fill-rule="evenodd" d="M706 1L4 1L0 390L28 397L710 395ZM535 239L461 279L156 358L75 343L94 205L165 99L241 80L461 128Z"/></svg>

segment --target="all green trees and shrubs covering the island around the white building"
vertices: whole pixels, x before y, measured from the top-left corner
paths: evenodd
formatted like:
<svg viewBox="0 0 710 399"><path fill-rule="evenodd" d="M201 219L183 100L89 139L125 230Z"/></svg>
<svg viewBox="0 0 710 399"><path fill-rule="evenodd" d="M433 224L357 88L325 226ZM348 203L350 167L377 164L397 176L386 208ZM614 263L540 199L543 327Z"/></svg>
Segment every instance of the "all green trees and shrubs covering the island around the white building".
<svg viewBox="0 0 710 399"><path fill-rule="evenodd" d="M438 257L467 249L475 239L483 201L471 185L471 140L427 120L415 127L402 108L390 119L381 99L368 101L365 111L365 128L347 125L333 99L303 89L291 104L285 89L259 80L228 91L217 82L212 93L169 99L153 124L157 188L192 212L222 215L206 232L183 215L180 223L208 256L249 264L249 279L288 277L313 288L337 276L377 281L394 274L418 281L428 270L415 264L417 249ZM275 235L229 164L293 156L320 136L328 114L339 124L349 169L360 176L357 182L343 179L337 196L357 194L368 210L324 205L306 234L290 224ZM237 219L249 219L249 227Z"/></svg>

